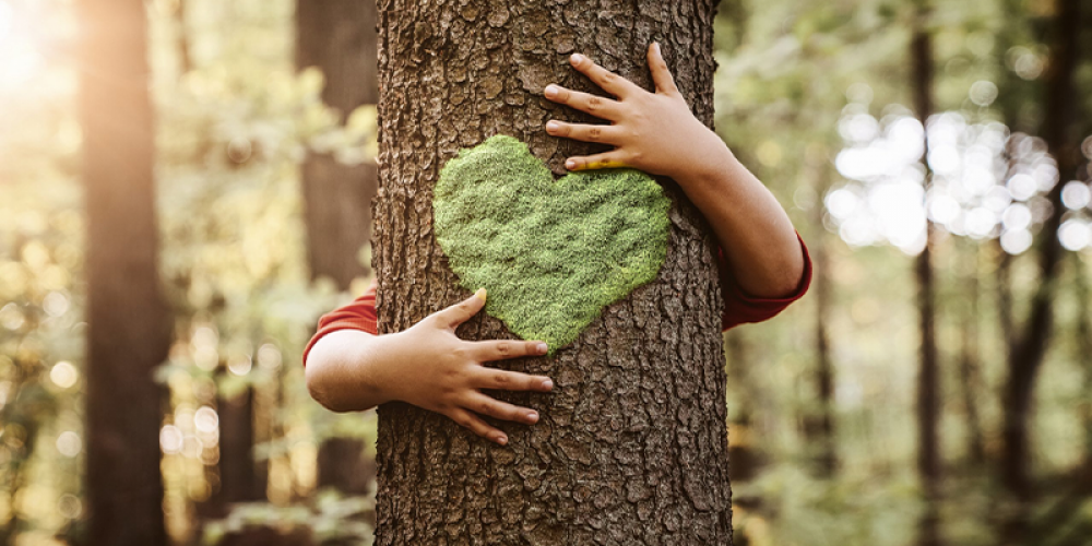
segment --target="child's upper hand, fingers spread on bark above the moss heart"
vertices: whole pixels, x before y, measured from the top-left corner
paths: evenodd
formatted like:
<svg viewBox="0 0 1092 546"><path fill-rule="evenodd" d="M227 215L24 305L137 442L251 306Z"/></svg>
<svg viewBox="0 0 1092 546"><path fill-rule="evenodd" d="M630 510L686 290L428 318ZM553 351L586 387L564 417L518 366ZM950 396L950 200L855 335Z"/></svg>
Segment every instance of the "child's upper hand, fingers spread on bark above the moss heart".
<svg viewBox="0 0 1092 546"><path fill-rule="evenodd" d="M569 170L632 167L686 185L687 180L703 176L713 163L711 159L731 155L716 133L690 112L660 54L658 44L649 47L649 68L656 85L654 94L582 55L574 54L570 62L618 99L559 85L546 86L546 98L612 121L609 126L557 120L546 123L546 132L555 136L616 146L603 154L570 157L565 164Z"/></svg>

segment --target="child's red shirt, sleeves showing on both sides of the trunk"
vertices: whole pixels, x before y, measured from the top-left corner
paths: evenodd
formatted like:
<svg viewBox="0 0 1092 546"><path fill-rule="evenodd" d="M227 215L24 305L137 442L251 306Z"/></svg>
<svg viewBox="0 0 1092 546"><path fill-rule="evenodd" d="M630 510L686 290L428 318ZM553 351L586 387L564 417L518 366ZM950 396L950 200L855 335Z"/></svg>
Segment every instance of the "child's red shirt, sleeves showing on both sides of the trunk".
<svg viewBox="0 0 1092 546"><path fill-rule="evenodd" d="M773 318L783 311L790 304L800 299L808 286L811 285L811 259L808 256L808 248L804 245L804 239L796 236L800 241L800 250L804 252L804 275L800 284L792 294L780 298L763 298L747 294L732 275L727 263L724 260L724 251L717 252L721 271L721 292L724 295L724 314L722 327L727 330L732 327L747 322L762 322ZM353 300L351 304L340 307L319 319L318 331L308 342L304 349L304 363L307 363L307 355L311 347L323 335L336 330L361 330L372 335L378 335L379 330L376 324L376 282L372 281L364 295Z"/></svg>

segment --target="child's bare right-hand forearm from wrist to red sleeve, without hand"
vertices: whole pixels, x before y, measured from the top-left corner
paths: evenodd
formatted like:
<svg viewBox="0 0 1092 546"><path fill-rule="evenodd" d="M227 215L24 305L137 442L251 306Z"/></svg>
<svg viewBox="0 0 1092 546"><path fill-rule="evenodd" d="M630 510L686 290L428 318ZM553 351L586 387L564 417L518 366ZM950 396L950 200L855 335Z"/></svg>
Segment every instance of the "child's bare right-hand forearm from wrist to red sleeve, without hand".
<svg viewBox="0 0 1092 546"><path fill-rule="evenodd" d="M804 252L788 214L719 138L704 145L705 168L676 181L709 221L744 290L792 294L804 274Z"/></svg>

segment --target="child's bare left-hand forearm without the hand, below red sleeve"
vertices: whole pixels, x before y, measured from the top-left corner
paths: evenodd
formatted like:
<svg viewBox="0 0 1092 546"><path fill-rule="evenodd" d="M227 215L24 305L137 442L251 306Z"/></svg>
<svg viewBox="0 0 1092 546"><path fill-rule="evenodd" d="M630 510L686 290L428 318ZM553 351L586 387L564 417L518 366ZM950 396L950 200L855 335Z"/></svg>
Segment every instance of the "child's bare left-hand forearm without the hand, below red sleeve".
<svg viewBox="0 0 1092 546"><path fill-rule="evenodd" d="M358 412L390 402L378 368L390 361L391 340L359 330L323 335L307 356L307 390L332 412Z"/></svg>

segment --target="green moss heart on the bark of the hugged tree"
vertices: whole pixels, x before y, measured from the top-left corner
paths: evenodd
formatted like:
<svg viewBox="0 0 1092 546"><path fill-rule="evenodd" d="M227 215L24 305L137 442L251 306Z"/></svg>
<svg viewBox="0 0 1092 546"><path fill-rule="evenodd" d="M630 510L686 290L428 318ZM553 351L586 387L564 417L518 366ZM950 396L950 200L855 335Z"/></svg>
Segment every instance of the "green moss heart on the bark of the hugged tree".
<svg viewBox="0 0 1092 546"><path fill-rule="evenodd" d="M670 200L633 169L554 181L517 139L496 135L440 171L436 238L486 312L550 354L603 308L656 277L667 256Z"/></svg>

